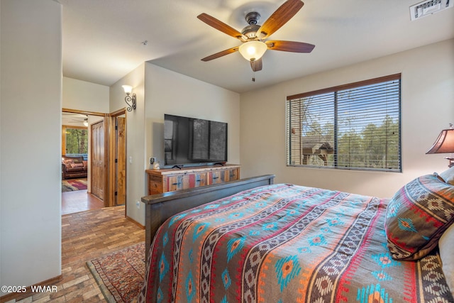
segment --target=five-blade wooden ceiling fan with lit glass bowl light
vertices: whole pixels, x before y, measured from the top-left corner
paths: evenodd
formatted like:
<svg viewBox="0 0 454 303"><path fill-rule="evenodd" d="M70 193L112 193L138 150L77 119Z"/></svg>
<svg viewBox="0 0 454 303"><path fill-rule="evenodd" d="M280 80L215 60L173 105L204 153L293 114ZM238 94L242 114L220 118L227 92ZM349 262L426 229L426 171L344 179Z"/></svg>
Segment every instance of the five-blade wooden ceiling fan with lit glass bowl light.
<svg viewBox="0 0 454 303"><path fill-rule="evenodd" d="M253 71L258 72L259 70L262 70L262 55L266 50L311 53L315 48L315 45L313 44L284 40L266 40L272 33L275 33L275 31L287 23L287 21L289 21L303 6L304 3L301 0L287 0L272 13L270 18L267 18L262 26L258 25L260 13L251 11L245 16L245 20L249 25L243 28L241 32L206 13L201 13L197 16L201 21L216 28L218 31L226 33L233 38L237 38L243 43L240 46L223 50L219 53L204 57L201 60L206 62L238 51L250 62L250 67Z"/></svg>

